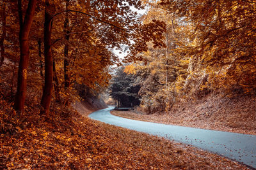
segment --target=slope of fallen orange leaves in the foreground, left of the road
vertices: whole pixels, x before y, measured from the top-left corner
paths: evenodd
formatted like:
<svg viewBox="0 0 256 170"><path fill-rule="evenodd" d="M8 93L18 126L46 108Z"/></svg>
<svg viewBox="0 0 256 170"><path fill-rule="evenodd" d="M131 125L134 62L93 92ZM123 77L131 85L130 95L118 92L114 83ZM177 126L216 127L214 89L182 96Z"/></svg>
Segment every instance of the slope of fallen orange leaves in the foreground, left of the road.
<svg viewBox="0 0 256 170"><path fill-rule="evenodd" d="M61 104L17 115L1 99L0 169L248 169L191 146L91 120Z"/></svg>

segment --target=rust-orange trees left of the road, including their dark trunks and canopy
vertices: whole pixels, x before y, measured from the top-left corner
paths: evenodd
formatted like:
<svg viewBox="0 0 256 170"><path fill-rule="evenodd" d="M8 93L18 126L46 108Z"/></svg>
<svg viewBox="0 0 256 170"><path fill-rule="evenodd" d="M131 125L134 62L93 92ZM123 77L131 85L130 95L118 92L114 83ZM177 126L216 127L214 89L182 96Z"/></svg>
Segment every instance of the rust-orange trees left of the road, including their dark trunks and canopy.
<svg viewBox="0 0 256 170"><path fill-rule="evenodd" d="M138 0L2 1L1 72L8 74L1 78L12 95L17 87L16 110L24 111L26 94L36 101L42 94L41 113L48 114L53 94L70 104L75 83L106 88L110 66L121 64L114 49L131 46L127 59L136 60L134 53L146 50L145 41L161 43L164 25L157 20L141 25L136 10L143 8ZM133 41L144 46L132 47Z"/></svg>

